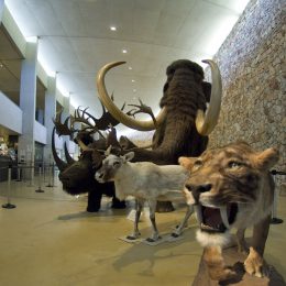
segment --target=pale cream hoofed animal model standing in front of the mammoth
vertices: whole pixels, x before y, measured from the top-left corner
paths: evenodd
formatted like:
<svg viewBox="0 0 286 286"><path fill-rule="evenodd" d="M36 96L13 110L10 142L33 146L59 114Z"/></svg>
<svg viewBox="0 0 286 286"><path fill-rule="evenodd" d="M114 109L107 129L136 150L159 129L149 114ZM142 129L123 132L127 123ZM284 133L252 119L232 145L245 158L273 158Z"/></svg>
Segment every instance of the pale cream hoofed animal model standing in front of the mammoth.
<svg viewBox="0 0 286 286"><path fill-rule="evenodd" d="M128 196L135 197L134 231L128 235L129 240L135 240L140 237L138 228L140 215L144 202L148 202L153 235L147 241L155 242L161 239L155 222L156 201L186 201L183 188L189 174L179 165L158 166L151 162L131 163L133 157L134 152L123 156L108 155L103 160L101 168L96 173L96 179L100 183L114 182L116 196L120 200ZM193 206L188 206L185 218L173 232L173 237L182 234L191 213Z"/></svg>

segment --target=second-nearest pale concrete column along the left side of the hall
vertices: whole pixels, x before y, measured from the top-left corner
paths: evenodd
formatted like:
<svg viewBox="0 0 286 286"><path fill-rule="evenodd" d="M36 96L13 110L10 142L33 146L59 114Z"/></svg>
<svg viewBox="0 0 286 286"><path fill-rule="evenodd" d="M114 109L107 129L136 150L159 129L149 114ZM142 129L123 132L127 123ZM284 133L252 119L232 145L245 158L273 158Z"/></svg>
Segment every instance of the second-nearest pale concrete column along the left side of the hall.
<svg viewBox="0 0 286 286"><path fill-rule="evenodd" d="M44 147L44 161L50 163L52 155L52 132L54 128L53 119L56 117L56 77L47 78L47 89L45 92L45 128L46 145Z"/></svg>

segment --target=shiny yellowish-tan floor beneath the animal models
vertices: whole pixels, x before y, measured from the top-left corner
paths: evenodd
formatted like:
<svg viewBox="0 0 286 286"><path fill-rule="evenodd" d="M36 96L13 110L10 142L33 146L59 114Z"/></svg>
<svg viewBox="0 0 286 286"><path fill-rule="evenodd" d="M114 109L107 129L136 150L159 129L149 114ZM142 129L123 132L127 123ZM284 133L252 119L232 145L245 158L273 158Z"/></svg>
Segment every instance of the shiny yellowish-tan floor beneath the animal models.
<svg viewBox="0 0 286 286"><path fill-rule="evenodd" d="M191 285L201 255L195 240L196 221L190 219L183 239L160 245L128 243L119 238L132 230L125 210L110 209L105 198L98 213L87 213L86 196L66 195L56 187L31 182L11 182L14 209L0 208L0 285ZM37 179L35 179L37 185ZM8 184L0 183L0 204L7 202ZM158 213L157 224L167 234L185 213L177 206L170 213ZM279 195L278 217L286 218L286 194ZM286 223L286 221L285 221ZM265 258L286 279L286 224L273 224ZM143 238L150 234L144 212L140 223Z"/></svg>

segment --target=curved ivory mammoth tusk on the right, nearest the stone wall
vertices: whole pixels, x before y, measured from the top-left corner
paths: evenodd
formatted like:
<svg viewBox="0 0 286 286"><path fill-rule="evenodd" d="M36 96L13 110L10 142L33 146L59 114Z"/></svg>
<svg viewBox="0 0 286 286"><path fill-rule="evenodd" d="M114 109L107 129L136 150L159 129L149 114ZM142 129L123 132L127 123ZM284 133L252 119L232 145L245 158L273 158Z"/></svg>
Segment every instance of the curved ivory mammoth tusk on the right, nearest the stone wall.
<svg viewBox="0 0 286 286"><path fill-rule="evenodd" d="M210 66L212 87L209 108L206 111L206 114L202 110L198 110L196 117L196 127L199 134L206 136L211 133L218 122L221 106L222 87L220 70L217 64L211 59L204 59L202 62Z"/></svg>

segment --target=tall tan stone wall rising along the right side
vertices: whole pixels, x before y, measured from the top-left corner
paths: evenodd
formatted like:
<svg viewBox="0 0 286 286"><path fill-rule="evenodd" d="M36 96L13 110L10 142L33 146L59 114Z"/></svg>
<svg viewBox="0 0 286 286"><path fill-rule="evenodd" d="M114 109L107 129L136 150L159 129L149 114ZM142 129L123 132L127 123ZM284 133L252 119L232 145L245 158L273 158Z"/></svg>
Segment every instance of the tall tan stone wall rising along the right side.
<svg viewBox="0 0 286 286"><path fill-rule="evenodd" d="M277 146L280 160L276 167L284 170L285 14L284 0L251 0L216 54L215 61L222 76L223 98L219 123L209 143L209 146L218 146L244 140L258 150Z"/></svg>

